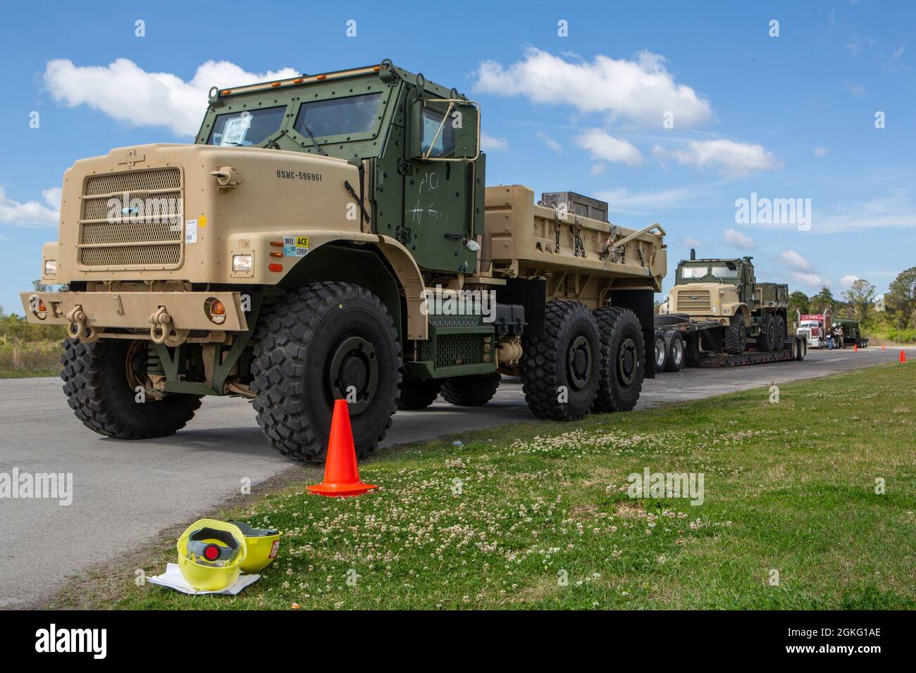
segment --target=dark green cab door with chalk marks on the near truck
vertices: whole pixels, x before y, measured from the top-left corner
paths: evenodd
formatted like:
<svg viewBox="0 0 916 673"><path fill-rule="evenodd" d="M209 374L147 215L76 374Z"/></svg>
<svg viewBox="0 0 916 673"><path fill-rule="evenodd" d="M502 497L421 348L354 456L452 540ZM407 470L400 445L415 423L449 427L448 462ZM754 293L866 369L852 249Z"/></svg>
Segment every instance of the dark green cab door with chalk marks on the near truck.
<svg viewBox="0 0 916 673"><path fill-rule="evenodd" d="M429 103L420 111L420 148L427 157L455 156L457 134L453 120L445 119L447 110L447 103ZM467 239L474 237L470 216L473 186L472 162L417 157L410 162L410 172L404 179L404 222L398 240L421 267L459 273L476 271L477 255L465 245Z"/></svg>

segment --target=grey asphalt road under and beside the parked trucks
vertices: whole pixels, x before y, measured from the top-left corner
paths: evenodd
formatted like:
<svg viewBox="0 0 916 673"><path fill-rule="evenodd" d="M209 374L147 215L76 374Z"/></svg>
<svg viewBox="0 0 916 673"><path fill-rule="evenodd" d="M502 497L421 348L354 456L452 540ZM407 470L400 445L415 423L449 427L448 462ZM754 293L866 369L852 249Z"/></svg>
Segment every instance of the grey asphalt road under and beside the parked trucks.
<svg viewBox="0 0 916 673"><path fill-rule="evenodd" d="M910 352L911 357L916 353ZM637 408L788 383L871 364L896 362L899 349L809 351L802 363L684 369L646 381ZM467 429L530 420L517 379L504 379L486 407L442 401L401 412L385 446ZM0 380L0 472L72 472L71 505L0 498L0 608L26 607L56 593L68 577L132 550L159 531L196 518L241 491L296 470L320 470L275 453L252 407L210 398L189 426L164 440L120 441L86 429L67 407L60 379Z"/></svg>

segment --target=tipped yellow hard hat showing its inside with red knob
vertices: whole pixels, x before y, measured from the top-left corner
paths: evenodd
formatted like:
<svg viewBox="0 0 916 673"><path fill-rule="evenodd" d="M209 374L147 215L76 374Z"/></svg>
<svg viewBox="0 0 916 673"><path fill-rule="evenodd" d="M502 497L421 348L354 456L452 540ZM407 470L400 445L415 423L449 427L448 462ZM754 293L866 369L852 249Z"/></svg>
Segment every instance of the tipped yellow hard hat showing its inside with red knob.
<svg viewBox="0 0 916 673"><path fill-rule="evenodd" d="M238 526L198 519L178 538L181 577L198 591L220 592L232 586L248 554Z"/></svg>

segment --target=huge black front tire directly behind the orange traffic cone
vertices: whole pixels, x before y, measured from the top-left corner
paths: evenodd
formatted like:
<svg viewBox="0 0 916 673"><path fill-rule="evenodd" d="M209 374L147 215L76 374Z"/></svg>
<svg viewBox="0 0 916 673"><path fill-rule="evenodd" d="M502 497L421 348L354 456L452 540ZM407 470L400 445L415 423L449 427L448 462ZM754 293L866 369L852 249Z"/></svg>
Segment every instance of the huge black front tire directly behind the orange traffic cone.
<svg viewBox="0 0 916 673"><path fill-rule="evenodd" d="M256 331L251 390L257 423L280 453L322 461L335 399L349 404L356 455L378 446L398 407L398 332L385 305L350 283L286 293Z"/></svg>

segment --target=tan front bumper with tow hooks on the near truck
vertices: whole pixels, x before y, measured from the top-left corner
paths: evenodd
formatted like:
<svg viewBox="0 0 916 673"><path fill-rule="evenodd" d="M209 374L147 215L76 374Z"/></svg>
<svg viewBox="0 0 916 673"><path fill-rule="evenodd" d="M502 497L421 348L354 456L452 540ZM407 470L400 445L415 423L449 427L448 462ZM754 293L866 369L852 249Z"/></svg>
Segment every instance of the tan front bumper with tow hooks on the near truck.
<svg viewBox="0 0 916 673"><path fill-rule="evenodd" d="M106 329L149 331L157 320L180 331L248 329L240 292L23 292L19 298L26 319L33 324L72 327L83 322L99 336ZM207 312L213 300L225 307L225 319L220 323ZM42 306L43 311L39 310ZM82 320L75 320L78 317Z"/></svg>

